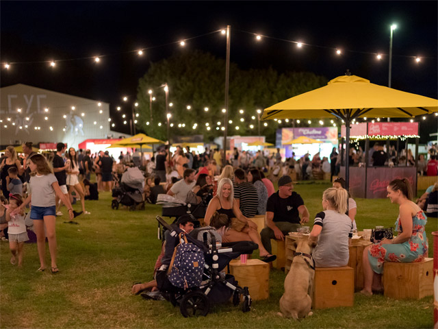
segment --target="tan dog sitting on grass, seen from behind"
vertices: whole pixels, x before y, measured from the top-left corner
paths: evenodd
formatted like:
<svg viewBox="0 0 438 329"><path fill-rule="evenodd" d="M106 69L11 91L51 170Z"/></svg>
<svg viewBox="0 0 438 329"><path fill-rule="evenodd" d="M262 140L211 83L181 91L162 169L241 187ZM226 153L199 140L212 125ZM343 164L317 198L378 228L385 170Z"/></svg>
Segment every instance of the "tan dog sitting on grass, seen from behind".
<svg viewBox="0 0 438 329"><path fill-rule="evenodd" d="M298 240L296 253L311 255L316 243L310 241L307 236ZM307 260L307 262L306 262ZM285 278L285 293L280 299L281 315L302 319L312 315L313 278L315 270L311 268L313 260L308 256L294 256L289 273Z"/></svg>

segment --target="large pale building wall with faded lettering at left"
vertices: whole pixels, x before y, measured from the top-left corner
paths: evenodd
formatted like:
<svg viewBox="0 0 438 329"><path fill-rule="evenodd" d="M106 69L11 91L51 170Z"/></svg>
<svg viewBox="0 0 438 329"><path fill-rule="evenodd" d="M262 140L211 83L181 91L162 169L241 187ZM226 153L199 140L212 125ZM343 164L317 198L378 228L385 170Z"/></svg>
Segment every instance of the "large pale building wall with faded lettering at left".
<svg viewBox="0 0 438 329"><path fill-rule="evenodd" d="M31 141L77 147L86 139L117 134L110 130L108 103L98 106L99 101L24 84L1 88L0 99L0 145Z"/></svg>

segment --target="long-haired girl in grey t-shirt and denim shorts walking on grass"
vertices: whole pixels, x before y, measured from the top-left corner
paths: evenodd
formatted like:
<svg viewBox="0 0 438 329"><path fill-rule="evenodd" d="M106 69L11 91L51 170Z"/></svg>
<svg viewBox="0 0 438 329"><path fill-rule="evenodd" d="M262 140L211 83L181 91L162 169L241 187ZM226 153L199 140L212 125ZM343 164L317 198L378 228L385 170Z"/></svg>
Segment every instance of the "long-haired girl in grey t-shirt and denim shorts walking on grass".
<svg viewBox="0 0 438 329"><path fill-rule="evenodd" d="M53 169L50 167L46 158L41 154L34 154L29 159L31 193L25 202L12 212L12 215L20 212L29 202L32 202L30 218L34 220L36 245L38 247L38 256L40 257L41 264L38 271L44 271L44 269L46 269L45 254L47 233L51 257L51 271L52 273L57 273L59 270L56 265L55 195L67 206L70 220L74 217L73 208L71 208L68 197L62 193L60 185L57 183L55 175L53 175ZM44 232L44 227L46 232Z"/></svg>

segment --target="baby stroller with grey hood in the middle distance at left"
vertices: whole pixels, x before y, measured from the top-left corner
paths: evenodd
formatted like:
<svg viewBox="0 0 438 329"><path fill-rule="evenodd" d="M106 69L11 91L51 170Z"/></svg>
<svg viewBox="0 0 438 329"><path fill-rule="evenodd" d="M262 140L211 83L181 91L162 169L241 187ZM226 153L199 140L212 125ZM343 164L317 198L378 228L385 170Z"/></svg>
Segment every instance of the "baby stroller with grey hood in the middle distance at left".
<svg viewBox="0 0 438 329"><path fill-rule="evenodd" d="M113 188L111 208L118 209L119 204L129 206L129 210L136 210L141 204L141 209L144 209L143 199L144 175L140 169L128 168L122 175L120 187Z"/></svg>

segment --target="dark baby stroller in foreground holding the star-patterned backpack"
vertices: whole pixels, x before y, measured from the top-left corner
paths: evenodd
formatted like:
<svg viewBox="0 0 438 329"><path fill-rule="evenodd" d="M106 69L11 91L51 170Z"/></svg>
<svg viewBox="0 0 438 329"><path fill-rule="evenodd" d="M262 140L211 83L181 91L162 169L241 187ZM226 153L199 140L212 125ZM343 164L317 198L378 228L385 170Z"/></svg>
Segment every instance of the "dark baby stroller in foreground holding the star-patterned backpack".
<svg viewBox="0 0 438 329"><path fill-rule="evenodd" d="M157 221L170 231L172 236L183 233L179 228L173 228L168 225L164 219L157 216ZM194 239L190 234L186 234L185 238L190 243L196 245L203 251L204 269L203 281L198 287L190 287L181 289L175 287L168 282L166 288L162 289L162 293L166 295L169 302L173 306L179 306L183 317L192 317L195 315L206 316L209 313L211 304L227 302L233 296L233 304L240 304L240 296L243 296L242 311L248 312L251 306L251 298L248 287L239 287L234 277L227 274L223 276L220 271L224 269L233 258L237 258L240 254L252 254L258 248L256 243L251 241L240 241L235 243L222 243L216 245L214 235L209 236L208 232L203 233L204 242ZM174 264L175 265L175 264Z"/></svg>

